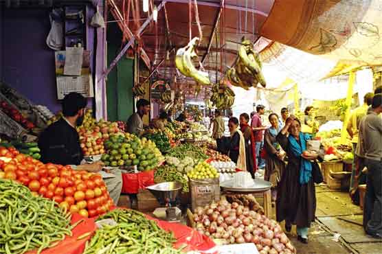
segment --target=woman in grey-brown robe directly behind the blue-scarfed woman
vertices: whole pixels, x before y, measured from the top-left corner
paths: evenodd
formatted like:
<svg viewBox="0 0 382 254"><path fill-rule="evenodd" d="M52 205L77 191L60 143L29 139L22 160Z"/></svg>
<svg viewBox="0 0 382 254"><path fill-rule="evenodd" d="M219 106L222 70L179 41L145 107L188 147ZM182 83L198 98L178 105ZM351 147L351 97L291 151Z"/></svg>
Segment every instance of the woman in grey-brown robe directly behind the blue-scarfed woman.
<svg viewBox="0 0 382 254"><path fill-rule="evenodd" d="M265 130L264 133L264 148L267 151L264 180L272 183L272 201L274 202L276 201L278 183L280 183L280 179L285 170L285 152L276 140L282 128L278 115L271 113L268 119L271 123L271 127Z"/></svg>

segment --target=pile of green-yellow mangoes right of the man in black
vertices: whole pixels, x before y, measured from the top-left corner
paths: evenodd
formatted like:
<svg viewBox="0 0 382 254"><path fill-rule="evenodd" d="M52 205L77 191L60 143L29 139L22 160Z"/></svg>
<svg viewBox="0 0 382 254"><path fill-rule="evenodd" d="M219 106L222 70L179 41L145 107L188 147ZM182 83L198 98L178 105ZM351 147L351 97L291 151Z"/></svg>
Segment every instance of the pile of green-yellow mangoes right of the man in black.
<svg viewBox="0 0 382 254"><path fill-rule="evenodd" d="M102 155L101 160L106 166L137 165L139 171L146 171L153 170L164 160L153 141L141 140L129 133L111 135L104 146L107 153Z"/></svg>

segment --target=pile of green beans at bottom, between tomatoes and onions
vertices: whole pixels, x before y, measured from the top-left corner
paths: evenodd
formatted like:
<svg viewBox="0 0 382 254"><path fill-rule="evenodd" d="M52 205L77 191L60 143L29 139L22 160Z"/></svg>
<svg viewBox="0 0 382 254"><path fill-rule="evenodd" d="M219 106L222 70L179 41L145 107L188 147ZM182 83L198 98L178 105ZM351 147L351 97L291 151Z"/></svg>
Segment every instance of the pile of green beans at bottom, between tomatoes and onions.
<svg viewBox="0 0 382 254"><path fill-rule="evenodd" d="M176 254L180 250L172 248L176 240L172 233L158 227L143 213L131 209L114 209L98 220L113 219L115 226L104 225L95 231L87 242L84 254Z"/></svg>

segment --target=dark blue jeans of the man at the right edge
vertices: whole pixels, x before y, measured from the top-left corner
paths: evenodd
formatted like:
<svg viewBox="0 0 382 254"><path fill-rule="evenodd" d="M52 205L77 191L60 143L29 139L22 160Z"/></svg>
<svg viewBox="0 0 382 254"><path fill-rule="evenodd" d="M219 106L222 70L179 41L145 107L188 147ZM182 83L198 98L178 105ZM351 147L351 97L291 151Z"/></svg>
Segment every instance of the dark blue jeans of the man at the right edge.
<svg viewBox="0 0 382 254"><path fill-rule="evenodd" d="M365 203L363 205L363 227L368 234L382 235L382 160L366 159Z"/></svg>

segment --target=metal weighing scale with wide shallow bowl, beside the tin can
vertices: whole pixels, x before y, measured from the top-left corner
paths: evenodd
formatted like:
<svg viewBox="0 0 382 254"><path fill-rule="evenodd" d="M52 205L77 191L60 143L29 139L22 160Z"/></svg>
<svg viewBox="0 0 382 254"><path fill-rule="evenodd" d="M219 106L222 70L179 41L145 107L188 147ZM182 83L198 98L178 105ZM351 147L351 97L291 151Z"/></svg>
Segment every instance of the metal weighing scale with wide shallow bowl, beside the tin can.
<svg viewBox="0 0 382 254"><path fill-rule="evenodd" d="M164 182L146 187L157 198L159 204L153 214L168 222L180 222L181 209L176 207L177 196L181 192L182 185L178 182Z"/></svg>

